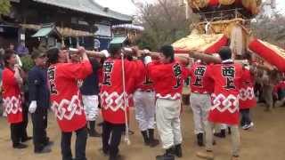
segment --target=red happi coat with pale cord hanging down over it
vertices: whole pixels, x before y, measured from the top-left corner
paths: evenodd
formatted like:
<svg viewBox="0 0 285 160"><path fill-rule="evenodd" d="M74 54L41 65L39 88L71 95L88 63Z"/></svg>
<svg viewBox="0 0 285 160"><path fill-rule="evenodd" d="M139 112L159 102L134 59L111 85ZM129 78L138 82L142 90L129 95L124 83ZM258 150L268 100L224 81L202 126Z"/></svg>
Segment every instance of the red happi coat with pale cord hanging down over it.
<svg viewBox="0 0 285 160"><path fill-rule="evenodd" d="M128 114L129 100L135 91L135 83L142 79L141 60L124 60L126 82L126 107L123 90L122 60L108 59L103 65L103 82L100 92L102 117L111 124L125 124L125 109Z"/></svg>

